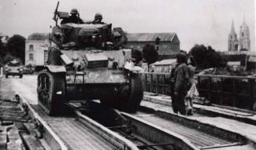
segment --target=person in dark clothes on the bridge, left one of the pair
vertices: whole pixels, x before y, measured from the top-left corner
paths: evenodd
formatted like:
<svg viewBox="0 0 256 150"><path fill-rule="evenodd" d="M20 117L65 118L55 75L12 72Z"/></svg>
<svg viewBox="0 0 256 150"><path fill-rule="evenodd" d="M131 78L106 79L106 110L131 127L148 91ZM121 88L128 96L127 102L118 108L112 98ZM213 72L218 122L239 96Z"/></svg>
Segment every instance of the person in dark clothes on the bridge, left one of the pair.
<svg viewBox="0 0 256 150"><path fill-rule="evenodd" d="M176 55L176 70L174 71L174 89L173 89L173 112L180 112L181 115L186 115L185 97L187 95L188 84L188 69L187 56L185 53L178 53Z"/></svg>

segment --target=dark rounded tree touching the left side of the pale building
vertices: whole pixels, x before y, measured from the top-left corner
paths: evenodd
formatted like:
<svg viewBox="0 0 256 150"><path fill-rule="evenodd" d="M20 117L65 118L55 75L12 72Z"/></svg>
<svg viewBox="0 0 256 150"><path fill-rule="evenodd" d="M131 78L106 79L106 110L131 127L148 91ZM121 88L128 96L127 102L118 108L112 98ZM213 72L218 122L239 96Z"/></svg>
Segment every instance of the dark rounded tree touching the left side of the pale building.
<svg viewBox="0 0 256 150"><path fill-rule="evenodd" d="M18 57L24 64L25 61L25 41L26 38L24 38L21 35L13 35L11 38L9 38L7 42L7 48L8 52L13 57Z"/></svg>

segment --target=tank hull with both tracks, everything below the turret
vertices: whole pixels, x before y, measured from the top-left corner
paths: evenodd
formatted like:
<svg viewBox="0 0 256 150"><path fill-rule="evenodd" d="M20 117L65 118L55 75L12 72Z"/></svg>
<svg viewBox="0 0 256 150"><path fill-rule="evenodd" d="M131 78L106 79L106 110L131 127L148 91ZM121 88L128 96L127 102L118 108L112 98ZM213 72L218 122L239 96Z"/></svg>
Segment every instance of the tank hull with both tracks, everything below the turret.
<svg viewBox="0 0 256 150"><path fill-rule="evenodd" d="M63 114L68 101L98 99L111 108L135 112L143 99L142 82L130 49L63 50L50 47L47 66L38 75L39 104L49 115Z"/></svg>

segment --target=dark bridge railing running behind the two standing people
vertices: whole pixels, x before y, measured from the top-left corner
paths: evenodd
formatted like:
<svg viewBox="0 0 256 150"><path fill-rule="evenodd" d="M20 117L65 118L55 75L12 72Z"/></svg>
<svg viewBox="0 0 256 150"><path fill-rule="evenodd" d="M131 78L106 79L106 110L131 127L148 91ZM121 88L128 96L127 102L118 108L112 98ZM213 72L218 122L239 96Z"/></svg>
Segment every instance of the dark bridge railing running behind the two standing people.
<svg viewBox="0 0 256 150"><path fill-rule="evenodd" d="M143 72L143 90L169 95L169 73ZM256 78L228 75L195 75L200 97L211 104L256 110Z"/></svg>

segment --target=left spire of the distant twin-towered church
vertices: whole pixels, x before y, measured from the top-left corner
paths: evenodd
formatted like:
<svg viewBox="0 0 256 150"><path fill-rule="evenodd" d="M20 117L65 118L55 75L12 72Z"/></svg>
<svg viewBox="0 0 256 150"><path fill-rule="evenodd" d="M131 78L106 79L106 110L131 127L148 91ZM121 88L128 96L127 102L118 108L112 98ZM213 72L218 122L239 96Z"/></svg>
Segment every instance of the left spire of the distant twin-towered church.
<svg viewBox="0 0 256 150"><path fill-rule="evenodd" d="M228 51L238 51L239 41L237 39L234 21L232 20L231 31L228 35Z"/></svg>

